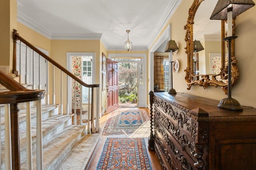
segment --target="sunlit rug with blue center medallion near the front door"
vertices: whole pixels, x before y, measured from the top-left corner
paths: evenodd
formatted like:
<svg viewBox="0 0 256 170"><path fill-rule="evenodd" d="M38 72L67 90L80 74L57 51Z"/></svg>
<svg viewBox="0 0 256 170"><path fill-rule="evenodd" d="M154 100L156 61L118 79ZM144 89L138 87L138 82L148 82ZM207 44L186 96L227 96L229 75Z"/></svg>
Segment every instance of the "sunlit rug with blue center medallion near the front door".
<svg viewBox="0 0 256 170"><path fill-rule="evenodd" d="M147 109L117 109L110 114L102 135L150 134Z"/></svg>

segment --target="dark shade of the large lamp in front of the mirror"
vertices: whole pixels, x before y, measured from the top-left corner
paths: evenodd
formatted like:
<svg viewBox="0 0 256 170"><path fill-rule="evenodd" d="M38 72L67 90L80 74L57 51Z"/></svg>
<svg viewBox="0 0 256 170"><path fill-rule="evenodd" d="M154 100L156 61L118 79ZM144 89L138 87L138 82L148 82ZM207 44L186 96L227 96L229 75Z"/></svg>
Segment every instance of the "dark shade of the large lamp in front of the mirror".
<svg viewBox="0 0 256 170"><path fill-rule="evenodd" d="M228 18L228 6L232 4L232 18L235 18L239 14L253 7L255 3L252 0L218 0L212 15L211 20L227 20Z"/></svg>

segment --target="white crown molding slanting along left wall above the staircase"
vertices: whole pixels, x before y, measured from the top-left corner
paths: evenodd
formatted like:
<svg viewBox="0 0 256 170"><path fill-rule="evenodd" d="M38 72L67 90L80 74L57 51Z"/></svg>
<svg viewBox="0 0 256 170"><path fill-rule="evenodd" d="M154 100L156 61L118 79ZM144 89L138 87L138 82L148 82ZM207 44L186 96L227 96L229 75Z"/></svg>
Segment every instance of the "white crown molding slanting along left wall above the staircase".
<svg viewBox="0 0 256 170"><path fill-rule="evenodd" d="M51 33L46 28L41 27L38 23L31 20L28 16L22 14L21 12L17 11L17 21L22 23L23 25L29 27L30 29L40 33L41 35L51 39Z"/></svg>

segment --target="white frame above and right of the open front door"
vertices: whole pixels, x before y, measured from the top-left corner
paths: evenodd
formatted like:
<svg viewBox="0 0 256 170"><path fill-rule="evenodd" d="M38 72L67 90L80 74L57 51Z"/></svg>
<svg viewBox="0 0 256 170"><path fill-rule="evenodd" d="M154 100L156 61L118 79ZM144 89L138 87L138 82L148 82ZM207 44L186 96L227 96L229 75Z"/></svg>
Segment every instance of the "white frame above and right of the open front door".
<svg viewBox="0 0 256 170"><path fill-rule="evenodd" d="M143 94L143 98L144 98L144 107L147 107L147 84L146 84L146 78L147 78L147 72L146 72L146 70L147 70L147 54L146 53L142 53L142 54L108 54L108 58L109 59L112 59L112 58L115 58L115 57L123 57L123 58L125 58L125 57L127 57L127 58L142 58L143 59L143 61L136 61L137 63L138 63L138 65L140 64L140 63L142 63L143 64L143 67L144 67L144 69L143 69L143 71L144 71L144 76L143 76L143 82L144 82L144 94ZM139 79L138 79L138 81L139 81ZM138 95L138 99L139 99L139 95ZM138 106L139 107L139 106Z"/></svg>

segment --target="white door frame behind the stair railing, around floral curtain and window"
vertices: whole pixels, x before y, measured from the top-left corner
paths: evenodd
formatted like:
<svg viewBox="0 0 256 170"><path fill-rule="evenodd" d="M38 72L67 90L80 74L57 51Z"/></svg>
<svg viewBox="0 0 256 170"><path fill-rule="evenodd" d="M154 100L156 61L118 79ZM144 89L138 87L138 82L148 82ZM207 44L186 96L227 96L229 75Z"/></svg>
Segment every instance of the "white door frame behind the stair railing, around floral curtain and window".
<svg viewBox="0 0 256 170"><path fill-rule="evenodd" d="M71 64L72 64L72 56L92 56L92 73L95 74L95 53L86 53L86 52L68 52L67 53L67 69L68 71L72 71ZM92 84L95 84L95 75L92 76ZM67 78L67 113L72 113L72 79L70 76ZM70 106L70 107L69 107Z"/></svg>

